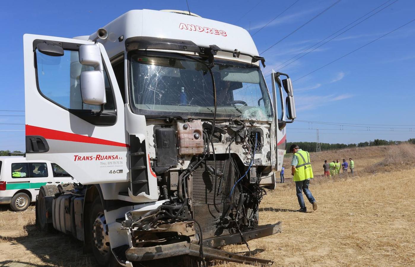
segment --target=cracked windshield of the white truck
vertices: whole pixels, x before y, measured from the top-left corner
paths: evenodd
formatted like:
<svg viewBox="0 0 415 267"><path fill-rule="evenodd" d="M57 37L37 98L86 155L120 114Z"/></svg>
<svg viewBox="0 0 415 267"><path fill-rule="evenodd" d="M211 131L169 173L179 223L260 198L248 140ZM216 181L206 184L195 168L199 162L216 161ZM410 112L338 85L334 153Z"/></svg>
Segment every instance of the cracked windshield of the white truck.
<svg viewBox="0 0 415 267"><path fill-rule="evenodd" d="M132 109L145 115L213 117L212 76L206 63L166 53L132 56ZM258 66L215 60L217 118L272 120Z"/></svg>

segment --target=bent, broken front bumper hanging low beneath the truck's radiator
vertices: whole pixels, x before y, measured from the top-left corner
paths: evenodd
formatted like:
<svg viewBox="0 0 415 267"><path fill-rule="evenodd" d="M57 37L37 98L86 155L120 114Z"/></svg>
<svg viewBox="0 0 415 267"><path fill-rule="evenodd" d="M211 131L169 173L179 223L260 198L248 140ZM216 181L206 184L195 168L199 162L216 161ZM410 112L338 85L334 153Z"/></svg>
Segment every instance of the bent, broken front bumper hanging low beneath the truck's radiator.
<svg viewBox="0 0 415 267"><path fill-rule="evenodd" d="M278 222L275 224L261 225L254 230L242 232L242 235L246 241L273 235L281 232L281 224L281 222ZM203 240L203 255L206 258L215 260L259 264L262 266L272 265L273 262L271 260L262 260L254 257L226 252L224 250L214 249L214 247L238 244L242 242L243 241L239 233L208 238ZM200 245L190 244L184 241L166 245L158 245L154 247L130 247L125 252L125 255L127 260L132 262L142 260L156 260L179 255L200 256Z"/></svg>

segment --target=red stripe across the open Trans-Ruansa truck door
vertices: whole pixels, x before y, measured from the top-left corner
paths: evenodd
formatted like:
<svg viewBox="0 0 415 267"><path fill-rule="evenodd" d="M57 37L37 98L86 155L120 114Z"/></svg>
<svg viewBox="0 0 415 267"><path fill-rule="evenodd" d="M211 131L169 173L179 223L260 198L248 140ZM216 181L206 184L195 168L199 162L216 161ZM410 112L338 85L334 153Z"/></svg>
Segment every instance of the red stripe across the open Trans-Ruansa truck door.
<svg viewBox="0 0 415 267"><path fill-rule="evenodd" d="M51 130L47 128L26 125L26 135L40 135L43 136L45 139L53 139L53 140L62 140L62 141L71 141L71 142L81 142L81 143L90 143L90 144L98 144L98 145L110 145L110 146L117 146L117 147L129 147L129 145L109 141L105 139L89 137L85 135L77 135L71 132L61 132L57 130Z"/></svg>

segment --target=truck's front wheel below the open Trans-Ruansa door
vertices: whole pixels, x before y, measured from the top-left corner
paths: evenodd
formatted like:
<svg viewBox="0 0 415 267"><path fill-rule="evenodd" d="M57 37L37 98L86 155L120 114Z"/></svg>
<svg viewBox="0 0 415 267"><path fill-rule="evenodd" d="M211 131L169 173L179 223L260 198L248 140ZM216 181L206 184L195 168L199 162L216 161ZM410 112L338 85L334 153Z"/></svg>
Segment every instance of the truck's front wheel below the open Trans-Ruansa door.
<svg viewBox="0 0 415 267"><path fill-rule="evenodd" d="M107 224L104 215L104 208L97 196L92 203L89 218L89 233L87 235L91 239L91 250L94 254L98 266L102 267L118 267L120 265L115 256L112 254L110 240L107 232Z"/></svg>

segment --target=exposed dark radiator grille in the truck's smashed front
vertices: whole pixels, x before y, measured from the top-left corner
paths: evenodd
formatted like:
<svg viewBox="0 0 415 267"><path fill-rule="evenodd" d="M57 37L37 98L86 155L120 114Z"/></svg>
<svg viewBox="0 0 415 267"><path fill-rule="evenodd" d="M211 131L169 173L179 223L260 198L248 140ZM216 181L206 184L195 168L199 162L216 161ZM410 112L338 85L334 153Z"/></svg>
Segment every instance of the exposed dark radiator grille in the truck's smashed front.
<svg viewBox="0 0 415 267"><path fill-rule="evenodd" d="M215 194L215 177L207 170L207 165L215 167L213 161L206 161L200 164L192 173L192 203L193 203L193 217L200 223L203 230L203 238L212 237L217 230L216 223L222 215L224 208L229 205L228 194L233 185L234 171L229 160L216 161L217 169L223 172L222 191L221 194ZM217 187L219 187L220 179L217 179ZM197 229L199 231L199 229ZM229 232L225 230L224 234Z"/></svg>

